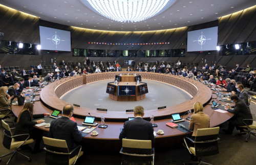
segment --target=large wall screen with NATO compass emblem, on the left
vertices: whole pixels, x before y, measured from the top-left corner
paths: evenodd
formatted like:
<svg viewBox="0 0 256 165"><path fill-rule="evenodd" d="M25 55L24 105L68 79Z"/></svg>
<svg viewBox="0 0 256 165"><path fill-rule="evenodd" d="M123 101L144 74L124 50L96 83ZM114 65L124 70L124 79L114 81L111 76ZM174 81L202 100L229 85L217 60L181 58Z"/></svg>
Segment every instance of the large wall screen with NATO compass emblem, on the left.
<svg viewBox="0 0 256 165"><path fill-rule="evenodd" d="M71 52L70 32L39 26L41 50Z"/></svg>

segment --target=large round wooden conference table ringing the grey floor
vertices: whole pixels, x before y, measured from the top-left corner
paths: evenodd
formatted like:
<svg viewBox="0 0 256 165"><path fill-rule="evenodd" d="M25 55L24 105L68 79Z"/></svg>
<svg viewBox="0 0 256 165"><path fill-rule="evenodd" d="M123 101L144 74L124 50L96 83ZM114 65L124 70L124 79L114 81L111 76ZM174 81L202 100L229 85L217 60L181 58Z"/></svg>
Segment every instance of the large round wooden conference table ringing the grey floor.
<svg viewBox="0 0 256 165"><path fill-rule="evenodd" d="M35 92L38 96L35 97L36 101L34 103L34 113L52 113L54 109L61 111L64 105L69 104L59 99L64 93L82 86L83 84L115 79L115 75L119 75L120 73L127 74L136 72L109 72L73 76L50 83L44 88L41 88L40 91ZM145 120L149 121L151 115L155 116L154 123L157 124L158 127L154 127L154 131L158 131L158 129L162 129L164 131L163 135L156 135L156 142L153 145L155 149L170 148L175 144L182 143L183 137L191 136L190 132L184 133L178 129L170 128L166 126L166 123L170 122L168 117L172 113L184 113L189 109L193 110L193 105L195 102L201 102L204 105L204 113L208 114L210 117L210 127L218 126L233 116L233 114L229 112L221 113L211 109L211 105L209 105L209 103L212 100L216 101L217 95L215 94L215 91L210 90L210 88L203 83L180 76L158 73L140 72L140 75L142 82L143 79L147 79L173 85L186 91L189 95L191 95L191 97L193 97L184 103L166 107L165 109L145 109L145 115L143 117ZM175 95L175 93L165 93L165 95ZM14 100L16 100L16 98ZM232 103L230 104L233 105ZM16 116L18 116L23 107L24 106L12 106L12 111ZM123 127L123 123L127 121L128 117L133 117L133 113L120 111L104 112L86 107L74 107L73 116L75 117L77 124L81 125L83 123L84 117L89 115L88 113L90 113L92 116L96 116L98 121L100 121L100 117L103 115L105 117L105 125L108 125L108 128L104 129L97 127L96 131L99 132L97 136L91 136L90 134L84 136L83 141L87 144L87 147L94 151L120 151L122 146L121 140L119 140L120 128ZM186 117L187 115L184 115L184 119ZM49 131L49 128L45 128L44 126L36 128Z"/></svg>

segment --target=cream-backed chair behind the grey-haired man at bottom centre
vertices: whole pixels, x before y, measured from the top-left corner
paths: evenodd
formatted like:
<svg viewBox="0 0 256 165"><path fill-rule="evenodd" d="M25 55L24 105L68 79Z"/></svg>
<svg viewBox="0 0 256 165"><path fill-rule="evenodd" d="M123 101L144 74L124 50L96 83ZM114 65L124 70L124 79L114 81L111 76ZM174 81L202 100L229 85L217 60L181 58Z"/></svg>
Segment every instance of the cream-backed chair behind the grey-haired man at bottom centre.
<svg viewBox="0 0 256 165"><path fill-rule="evenodd" d="M125 164L151 164L154 165L155 149L151 140L122 139L122 165Z"/></svg>

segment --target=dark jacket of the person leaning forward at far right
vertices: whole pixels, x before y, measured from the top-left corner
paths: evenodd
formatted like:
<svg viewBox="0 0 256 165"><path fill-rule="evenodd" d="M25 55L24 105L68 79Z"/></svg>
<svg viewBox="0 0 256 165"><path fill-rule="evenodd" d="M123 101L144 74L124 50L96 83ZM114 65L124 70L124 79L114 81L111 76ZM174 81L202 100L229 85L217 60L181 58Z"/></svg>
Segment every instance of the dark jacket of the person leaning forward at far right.
<svg viewBox="0 0 256 165"><path fill-rule="evenodd" d="M234 109L227 109L230 113L233 113L233 119L238 122L239 126L244 126L243 119L252 119L252 115L245 104L241 99L238 99L236 105L231 106ZM247 125L252 124L252 121L244 121Z"/></svg>

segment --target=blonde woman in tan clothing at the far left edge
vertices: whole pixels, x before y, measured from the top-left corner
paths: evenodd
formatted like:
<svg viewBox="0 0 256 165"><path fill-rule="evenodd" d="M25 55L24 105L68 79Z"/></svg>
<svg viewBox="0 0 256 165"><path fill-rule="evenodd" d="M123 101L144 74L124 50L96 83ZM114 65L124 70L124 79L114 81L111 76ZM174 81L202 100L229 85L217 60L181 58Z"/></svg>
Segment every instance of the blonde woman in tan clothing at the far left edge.
<svg viewBox="0 0 256 165"><path fill-rule="evenodd" d="M10 97L8 94L8 87L7 86L2 86L0 88L0 109L8 109L8 110L3 110L0 111L0 114L6 114L8 113L11 109L11 100L14 96Z"/></svg>

